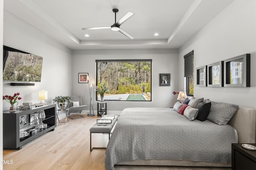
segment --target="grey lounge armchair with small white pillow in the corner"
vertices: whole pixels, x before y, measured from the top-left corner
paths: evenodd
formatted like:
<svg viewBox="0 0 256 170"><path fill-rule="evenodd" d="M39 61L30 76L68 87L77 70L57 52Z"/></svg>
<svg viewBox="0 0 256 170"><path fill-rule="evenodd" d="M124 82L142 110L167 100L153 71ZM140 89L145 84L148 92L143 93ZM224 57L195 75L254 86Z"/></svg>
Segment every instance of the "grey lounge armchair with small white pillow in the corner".
<svg viewBox="0 0 256 170"><path fill-rule="evenodd" d="M71 102L68 105L68 117L70 119L85 118L84 116L81 115L81 112L85 107L87 107L87 105L82 105L81 96L70 96L70 97L71 97ZM79 106L76 106L76 104L78 104L77 102L79 103ZM78 118L70 117L71 113L79 113L80 117L78 117Z"/></svg>

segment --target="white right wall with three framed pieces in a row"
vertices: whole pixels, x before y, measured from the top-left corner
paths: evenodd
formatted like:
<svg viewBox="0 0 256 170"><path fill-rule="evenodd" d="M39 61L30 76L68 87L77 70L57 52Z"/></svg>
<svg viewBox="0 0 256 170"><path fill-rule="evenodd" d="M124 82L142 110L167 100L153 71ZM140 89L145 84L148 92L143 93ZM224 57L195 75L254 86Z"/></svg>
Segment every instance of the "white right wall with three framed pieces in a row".
<svg viewBox="0 0 256 170"><path fill-rule="evenodd" d="M216 102L256 108L256 1L235 0L179 49L179 87L184 85L183 56L194 50L196 67L223 61L246 53L251 54L251 87L197 87L194 96ZM194 74L195 77L195 74Z"/></svg>

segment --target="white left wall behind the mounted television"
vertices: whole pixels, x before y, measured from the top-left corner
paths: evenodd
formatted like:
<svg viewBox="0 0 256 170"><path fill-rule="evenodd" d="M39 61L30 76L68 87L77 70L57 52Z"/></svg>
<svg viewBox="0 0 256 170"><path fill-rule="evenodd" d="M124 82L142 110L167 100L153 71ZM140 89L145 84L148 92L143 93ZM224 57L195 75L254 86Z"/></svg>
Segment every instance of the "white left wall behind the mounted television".
<svg viewBox="0 0 256 170"><path fill-rule="evenodd" d="M38 100L40 90L48 91L48 100L46 100L48 104L52 104L55 96L71 95L72 51L70 49L5 11L4 45L43 57L41 82L33 82L35 86L10 86L10 82L4 81L4 95L20 92L22 100L19 101L19 105L23 102L40 102ZM9 108L10 104L3 101L3 109Z"/></svg>

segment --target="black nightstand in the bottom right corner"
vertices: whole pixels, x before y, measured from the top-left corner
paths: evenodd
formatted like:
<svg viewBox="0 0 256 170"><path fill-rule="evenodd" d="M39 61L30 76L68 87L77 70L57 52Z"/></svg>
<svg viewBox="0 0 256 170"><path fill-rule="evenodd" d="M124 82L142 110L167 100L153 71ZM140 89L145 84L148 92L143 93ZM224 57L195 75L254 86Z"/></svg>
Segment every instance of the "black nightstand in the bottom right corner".
<svg viewBox="0 0 256 170"><path fill-rule="evenodd" d="M248 143L256 146L256 143ZM232 170L255 170L256 150L242 147L242 143L232 143Z"/></svg>

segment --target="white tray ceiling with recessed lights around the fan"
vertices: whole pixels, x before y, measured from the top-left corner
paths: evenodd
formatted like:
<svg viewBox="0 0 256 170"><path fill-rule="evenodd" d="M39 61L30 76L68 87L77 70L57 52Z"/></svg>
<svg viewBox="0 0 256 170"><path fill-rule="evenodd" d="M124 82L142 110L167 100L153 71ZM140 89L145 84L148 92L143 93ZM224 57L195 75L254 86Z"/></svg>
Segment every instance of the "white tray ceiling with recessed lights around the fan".
<svg viewBox="0 0 256 170"><path fill-rule="evenodd" d="M233 0L4 0L4 10L70 49L179 48ZM82 30L114 24L111 29ZM159 33L154 36L154 33ZM90 37L85 37L88 34Z"/></svg>

